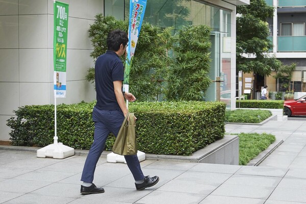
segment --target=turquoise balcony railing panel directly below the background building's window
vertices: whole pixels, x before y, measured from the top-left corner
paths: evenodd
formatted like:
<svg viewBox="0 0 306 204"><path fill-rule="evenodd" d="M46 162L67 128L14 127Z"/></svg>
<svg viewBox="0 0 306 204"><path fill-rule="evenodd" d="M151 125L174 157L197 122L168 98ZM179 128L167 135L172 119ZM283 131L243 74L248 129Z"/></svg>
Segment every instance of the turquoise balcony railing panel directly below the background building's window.
<svg viewBox="0 0 306 204"><path fill-rule="evenodd" d="M277 52L306 52L306 36L278 36Z"/></svg>

